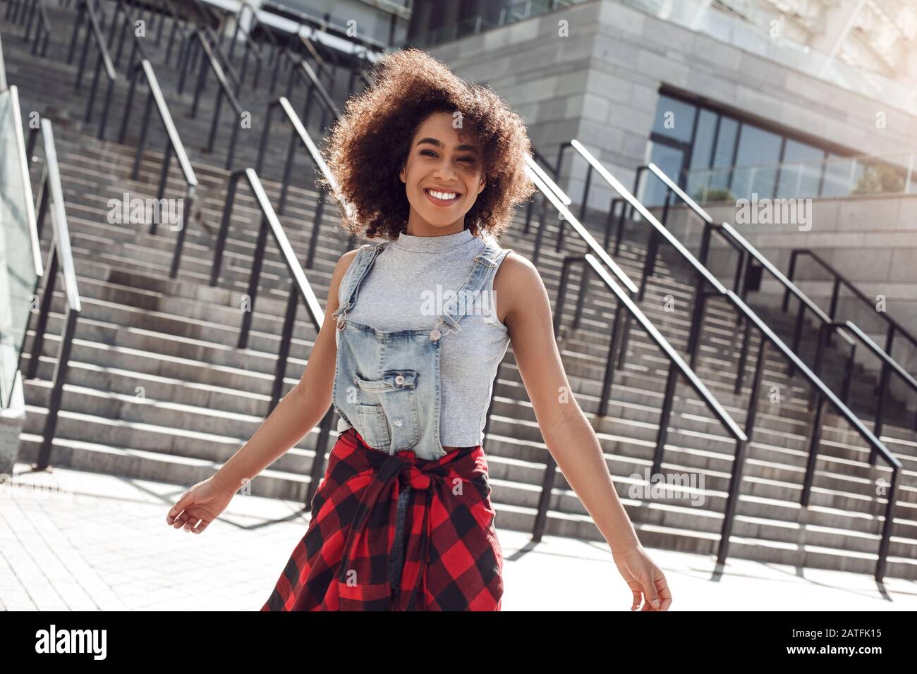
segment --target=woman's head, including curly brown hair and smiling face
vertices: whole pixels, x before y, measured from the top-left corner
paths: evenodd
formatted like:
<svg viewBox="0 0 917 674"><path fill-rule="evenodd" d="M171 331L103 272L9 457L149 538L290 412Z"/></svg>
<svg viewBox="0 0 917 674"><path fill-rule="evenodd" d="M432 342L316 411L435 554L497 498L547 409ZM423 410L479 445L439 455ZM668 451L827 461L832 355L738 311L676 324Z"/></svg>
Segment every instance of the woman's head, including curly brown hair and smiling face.
<svg viewBox="0 0 917 674"><path fill-rule="evenodd" d="M464 217L472 235L500 238L515 206L535 193L522 118L424 51L392 52L372 74L376 86L348 101L328 138L340 190L325 187L353 206L341 226L354 236L396 238L412 216L440 227Z"/></svg>

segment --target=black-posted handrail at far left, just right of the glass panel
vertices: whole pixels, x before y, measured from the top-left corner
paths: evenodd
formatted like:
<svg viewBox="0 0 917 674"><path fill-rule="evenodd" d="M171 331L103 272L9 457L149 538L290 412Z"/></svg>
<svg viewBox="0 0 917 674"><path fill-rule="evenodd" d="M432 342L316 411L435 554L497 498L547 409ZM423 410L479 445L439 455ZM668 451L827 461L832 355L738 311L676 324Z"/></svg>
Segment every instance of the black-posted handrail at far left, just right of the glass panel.
<svg viewBox="0 0 917 674"><path fill-rule="evenodd" d="M45 166L39 182L39 213L36 217L37 236L40 238L44 225L45 215L50 212L51 249L45 274L39 276L36 282L35 293L39 294L41 285L41 301L39 303L38 319L35 326L35 337L32 339L32 351L28 360L27 379L34 379L38 375L39 358L45 332L48 328L51 302L54 299L54 288L57 283L58 271L63 276L63 288L66 299L64 314L64 328L61 335L61 347L58 349L57 363L51 378L51 391L48 401L48 414L45 417L44 434L39 447L37 470L45 470L50 464L51 445L57 431L58 414L61 410L64 381L67 379L67 369L70 364L70 354L73 345L73 335L76 332L77 320L80 317L82 304L80 292L76 282L76 268L73 264L73 254L70 247L70 230L67 227L67 214L64 210L63 189L61 188L61 170L58 165L57 150L54 146L54 133L50 120L42 119L39 128L32 128L30 135L41 134L42 145L45 150ZM34 146L34 140L29 141ZM29 316L31 318L31 316ZM28 326L27 326L28 327Z"/></svg>

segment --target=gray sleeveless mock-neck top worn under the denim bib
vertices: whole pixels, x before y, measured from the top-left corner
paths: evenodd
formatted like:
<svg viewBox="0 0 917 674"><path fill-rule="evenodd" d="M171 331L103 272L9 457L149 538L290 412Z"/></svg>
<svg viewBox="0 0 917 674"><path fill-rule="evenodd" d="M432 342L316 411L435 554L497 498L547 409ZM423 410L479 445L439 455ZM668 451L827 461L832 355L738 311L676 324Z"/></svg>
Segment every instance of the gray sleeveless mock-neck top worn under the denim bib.
<svg viewBox="0 0 917 674"><path fill-rule="evenodd" d="M481 237L494 240L489 234ZM370 239L375 242L375 239ZM377 330L436 326L437 315L468 278L484 244L464 229L457 234L416 237L401 234L382 250L359 288L359 300L348 318ZM504 249L501 249L502 251ZM511 249L505 249L509 253ZM506 255L502 254L502 263ZM348 287L352 263L341 279L338 303ZM493 380L506 348L509 331L496 315L492 272L480 301L468 303L459 329L448 332L440 354L440 437L444 447L483 445L484 423ZM341 419L338 431L346 429Z"/></svg>

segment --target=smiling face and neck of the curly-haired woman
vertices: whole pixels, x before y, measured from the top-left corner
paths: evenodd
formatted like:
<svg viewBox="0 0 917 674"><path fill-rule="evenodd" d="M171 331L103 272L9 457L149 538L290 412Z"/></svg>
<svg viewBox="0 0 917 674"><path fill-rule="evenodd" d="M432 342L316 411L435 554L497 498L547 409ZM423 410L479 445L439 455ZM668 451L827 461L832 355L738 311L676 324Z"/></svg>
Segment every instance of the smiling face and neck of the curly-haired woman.
<svg viewBox="0 0 917 674"><path fill-rule="evenodd" d="M429 235L427 227L461 231L465 214L484 189L481 149L471 134L459 138L459 131L453 127L453 116L433 113L411 140L400 173L411 204L409 232Z"/></svg>

